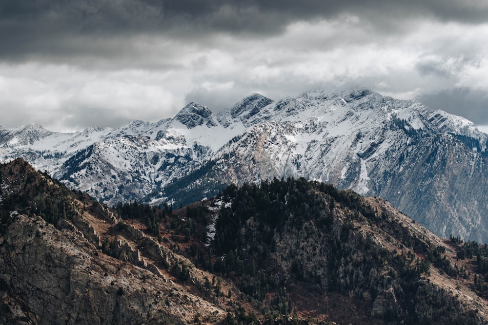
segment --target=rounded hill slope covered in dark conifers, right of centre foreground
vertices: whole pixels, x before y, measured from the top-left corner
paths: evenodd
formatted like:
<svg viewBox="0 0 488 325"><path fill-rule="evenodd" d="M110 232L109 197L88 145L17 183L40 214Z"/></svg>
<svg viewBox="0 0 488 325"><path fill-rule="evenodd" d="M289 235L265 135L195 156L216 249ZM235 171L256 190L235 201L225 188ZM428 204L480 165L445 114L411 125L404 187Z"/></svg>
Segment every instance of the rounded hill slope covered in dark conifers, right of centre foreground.
<svg viewBox="0 0 488 325"><path fill-rule="evenodd" d="M486 323L487 301L463 278L469 264L384 200L303 178L230 187L222 200L231 204L215 224L212 248L224 259L219 269L235 273L238 283L238 274L249 275L239 287L258 301L266 301L266 291L253 274L272 275L303 299L294 301L298 311L335 322ZM468 311L460 297L483 307Z"/></svg>

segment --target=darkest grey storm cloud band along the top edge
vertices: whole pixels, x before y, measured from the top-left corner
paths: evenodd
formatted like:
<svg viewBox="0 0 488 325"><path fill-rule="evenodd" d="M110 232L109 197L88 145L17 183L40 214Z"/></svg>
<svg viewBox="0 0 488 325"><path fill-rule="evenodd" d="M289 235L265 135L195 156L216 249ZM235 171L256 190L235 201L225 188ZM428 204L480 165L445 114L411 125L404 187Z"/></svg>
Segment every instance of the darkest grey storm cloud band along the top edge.
<svg viewBox="0 0 488 325"><path fill-rule="evenodd" d="M401 29L409 26L404 22L417 17L484 23L488 4L475 0L2 1L0 36L8 46L0 47L0 56L52 55L59 60L86 52L103 57L118 50L116 41L103 46L104 40L147 33L185 40L206 38L208 33L264 38L282 33L295 21L333 19L345 13L363 17L375 27L375 33L405 33Z"/></svg>

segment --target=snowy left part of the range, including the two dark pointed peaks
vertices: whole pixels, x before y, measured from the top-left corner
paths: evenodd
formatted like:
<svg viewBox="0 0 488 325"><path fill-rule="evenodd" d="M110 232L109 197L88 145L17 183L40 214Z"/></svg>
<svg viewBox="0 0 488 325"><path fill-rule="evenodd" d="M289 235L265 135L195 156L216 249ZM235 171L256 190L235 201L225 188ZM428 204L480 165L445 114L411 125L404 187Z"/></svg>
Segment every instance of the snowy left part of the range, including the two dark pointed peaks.
<svg viewBox="0 0 488 325"><path fill-rule="evenodd" d="M157 185L198 168L244 132L245 116L270 102L259 94L244 98L230 110L227 124L192 102L174 118L155 123L133 120L117 129L55 133L36 124L2 126L0 155L3 161L24 157L37 169L102 201L141 199Z"/></svg>

